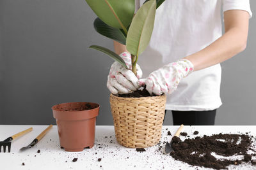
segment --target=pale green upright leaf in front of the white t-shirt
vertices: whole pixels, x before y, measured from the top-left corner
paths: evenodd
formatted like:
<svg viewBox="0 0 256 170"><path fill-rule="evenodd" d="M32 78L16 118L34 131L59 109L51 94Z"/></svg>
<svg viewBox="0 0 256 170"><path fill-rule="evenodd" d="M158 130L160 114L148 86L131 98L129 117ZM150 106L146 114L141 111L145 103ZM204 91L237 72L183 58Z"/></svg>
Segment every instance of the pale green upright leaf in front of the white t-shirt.
<svg viewBox="0 0 256 170"><path fill-rule="evenodd" d="M126 38L126 48L132 55L140 55L147 47L154 28L156 0L143 4L132 19Z"/></svg>

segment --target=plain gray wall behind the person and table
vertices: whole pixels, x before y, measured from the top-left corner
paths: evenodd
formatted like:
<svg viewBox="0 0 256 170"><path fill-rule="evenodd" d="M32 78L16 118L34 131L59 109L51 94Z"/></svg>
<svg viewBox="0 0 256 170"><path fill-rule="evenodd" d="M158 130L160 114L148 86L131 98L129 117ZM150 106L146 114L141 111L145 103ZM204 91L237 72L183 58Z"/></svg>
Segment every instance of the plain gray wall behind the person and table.
<svg viewBox="0 0 256 170"><path fill-rule="evenodd" d="M0 0L0 124L55 124L51 106L70 101L99 103L97 124L113 124L113 60L88 50L113 44L94 31L95 18L84 0ZM216 125L256 125L255 30L254 15L246 50L222 64ZM171 114L164 124L172 125Z"/></svg>

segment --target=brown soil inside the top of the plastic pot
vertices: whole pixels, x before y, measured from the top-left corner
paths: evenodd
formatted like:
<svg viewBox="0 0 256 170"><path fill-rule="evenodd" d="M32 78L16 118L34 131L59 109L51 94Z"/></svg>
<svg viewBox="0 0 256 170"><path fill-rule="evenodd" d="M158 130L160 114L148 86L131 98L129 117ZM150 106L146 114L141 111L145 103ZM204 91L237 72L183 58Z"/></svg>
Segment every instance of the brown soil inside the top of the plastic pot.
<svg viewBox="0 0 256 170"><path fill-rule="evenodd" d="M83 110L92 110L94 108L97 108L97 104L90 104L90 103L85 103L85 104L78 104L77 106L72 106L70 105L65 105L61 106L61 104L57 104L54 106L54 110L58 111L83 111Z"/></svg>

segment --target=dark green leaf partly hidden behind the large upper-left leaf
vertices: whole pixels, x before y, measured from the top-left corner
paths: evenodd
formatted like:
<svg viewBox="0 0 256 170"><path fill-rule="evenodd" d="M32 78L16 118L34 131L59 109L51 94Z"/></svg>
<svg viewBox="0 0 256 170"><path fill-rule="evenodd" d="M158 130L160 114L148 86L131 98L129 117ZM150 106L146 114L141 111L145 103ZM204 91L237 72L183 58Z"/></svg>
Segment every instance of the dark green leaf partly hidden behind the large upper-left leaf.
<svg viewBox="0 0 256 170"><path fill-rule="evenodd" d="M119 43L125 45L126 43L126 37L124 33L117 28L111 27L107 24L105 24L100 18L96 18L94 20L94 29L99 32L99 34L102 34L103 36L106 36L108 38L111 38L115 41L118 41Z"/></svg>

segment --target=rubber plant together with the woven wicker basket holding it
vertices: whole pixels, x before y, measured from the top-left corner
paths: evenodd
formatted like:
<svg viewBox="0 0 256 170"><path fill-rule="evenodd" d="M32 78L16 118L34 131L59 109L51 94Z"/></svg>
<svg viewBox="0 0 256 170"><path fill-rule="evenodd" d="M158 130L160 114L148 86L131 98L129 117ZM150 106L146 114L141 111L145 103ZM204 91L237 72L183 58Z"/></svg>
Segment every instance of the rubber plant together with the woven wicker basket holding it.
<svg viewBox="0 0 256 170"><path fill-rule="evenodd" d="M135 0L86 1L99 17L94 21L95 30L103 36L126 45L132 56L132 72L136 75L138 56L150 41L156 8L164 0L145 1L135 15ZM97 45L92 45L90 48L108 54L127 67L124 60L115 52ZM110 94L109 103L116 141L120 145L129 148L145 148L159 143L166 103L165 95L137 99Z"/></svg>

